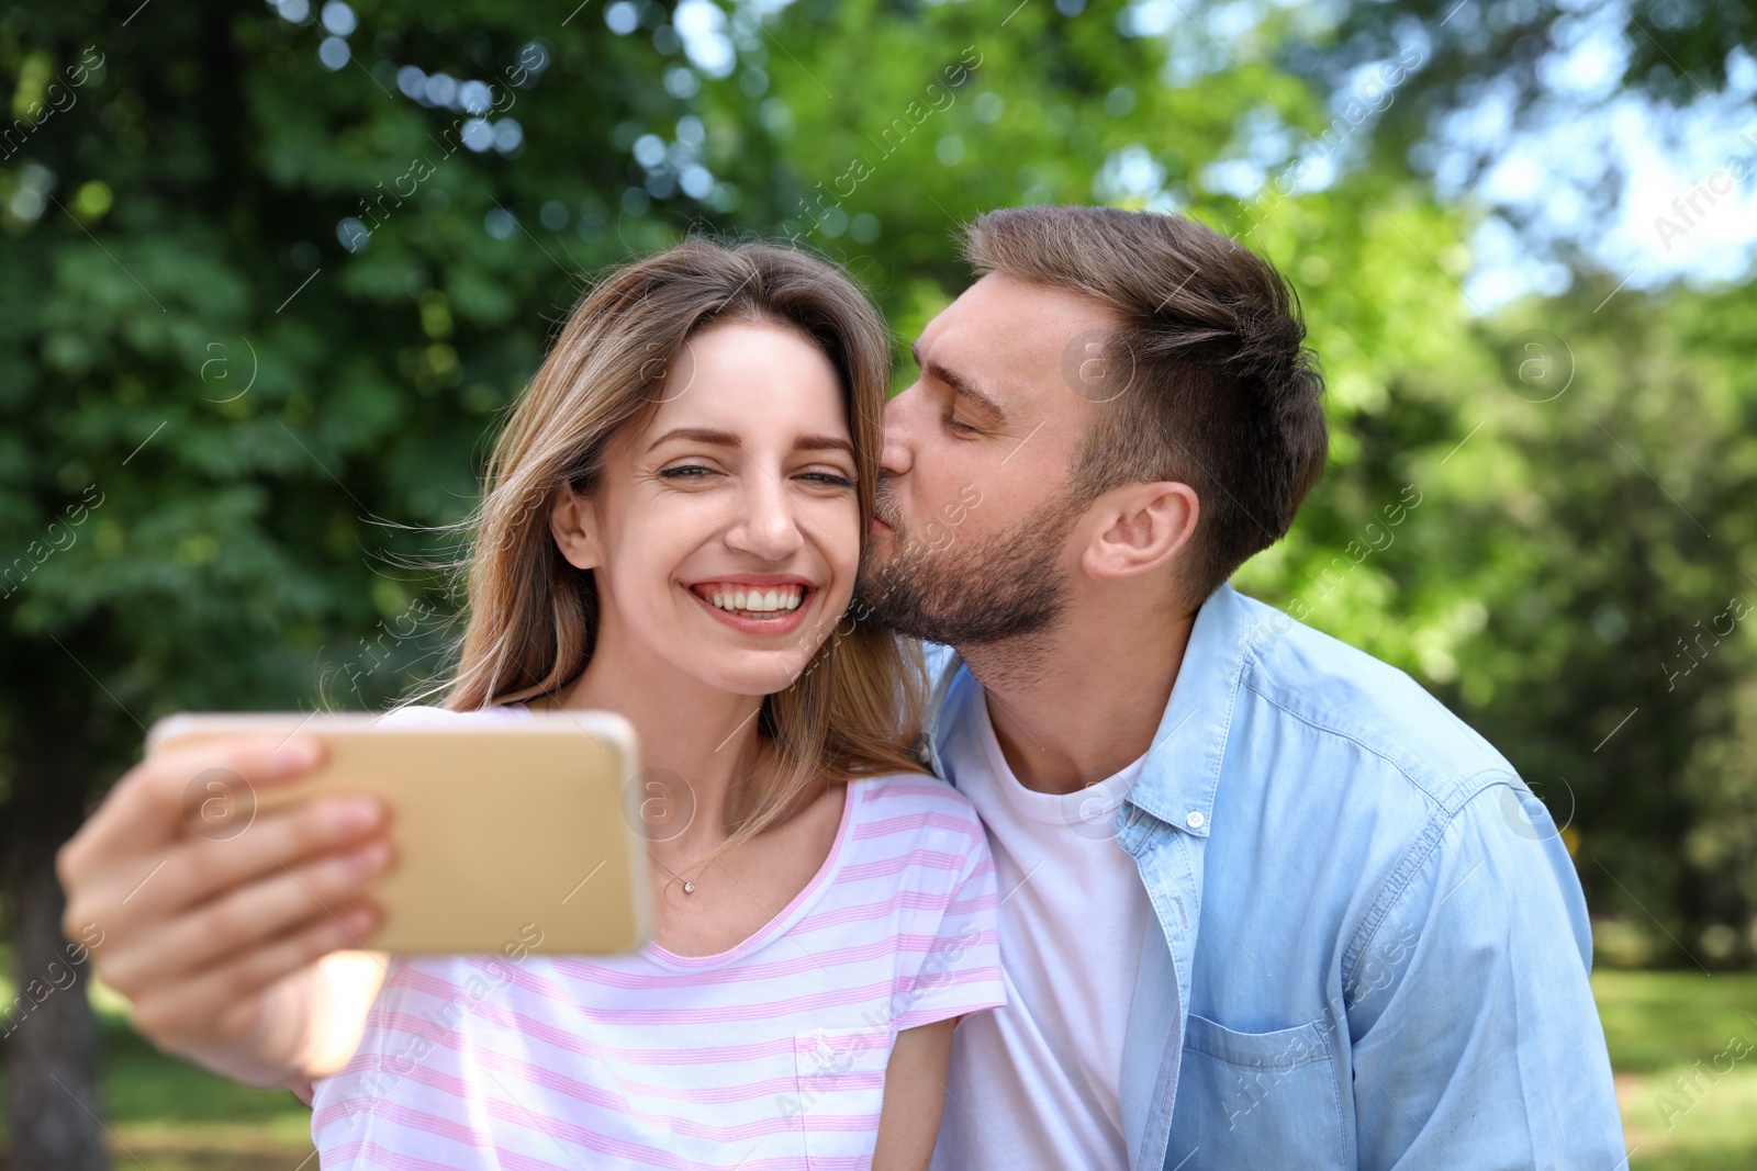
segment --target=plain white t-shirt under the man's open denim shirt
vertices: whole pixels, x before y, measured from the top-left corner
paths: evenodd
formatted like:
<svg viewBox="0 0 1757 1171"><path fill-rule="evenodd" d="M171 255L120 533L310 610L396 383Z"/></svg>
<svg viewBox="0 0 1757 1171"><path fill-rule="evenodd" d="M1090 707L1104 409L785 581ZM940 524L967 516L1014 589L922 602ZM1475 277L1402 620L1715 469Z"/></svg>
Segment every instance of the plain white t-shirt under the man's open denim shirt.
<svg viewBox="0 0 1757 1171"><path fill-rule="evenodd" d="M1153 909L1112 827L1146 757L1040 794L1007 765L980 686L956 686L944 720L942 764L994 853L1007 1004L952 1034L933 1171L1128 1167L1123 1038Z"/></svg>

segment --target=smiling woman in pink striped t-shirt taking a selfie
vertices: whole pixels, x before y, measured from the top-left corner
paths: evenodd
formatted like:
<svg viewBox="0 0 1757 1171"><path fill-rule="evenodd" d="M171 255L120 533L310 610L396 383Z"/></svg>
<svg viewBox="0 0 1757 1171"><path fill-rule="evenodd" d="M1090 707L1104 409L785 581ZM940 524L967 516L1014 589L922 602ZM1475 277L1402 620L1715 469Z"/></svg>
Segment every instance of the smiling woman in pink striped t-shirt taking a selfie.
<svg viewBox="0 0 1757 1171"><path fill-rule="evenodd" d="M383 811L192 841L167 823L190 776L307 767L234 743L139 765L63 851L135 1024L316 1078L325 1167L924 1167L951 1029L1005 997L980 823L908 751L919 665L845 620L886 372L840 272L696 241L599 284L499 437L445 709L395 718L624 715L647 948L341 952L376 923Z"/></svg>

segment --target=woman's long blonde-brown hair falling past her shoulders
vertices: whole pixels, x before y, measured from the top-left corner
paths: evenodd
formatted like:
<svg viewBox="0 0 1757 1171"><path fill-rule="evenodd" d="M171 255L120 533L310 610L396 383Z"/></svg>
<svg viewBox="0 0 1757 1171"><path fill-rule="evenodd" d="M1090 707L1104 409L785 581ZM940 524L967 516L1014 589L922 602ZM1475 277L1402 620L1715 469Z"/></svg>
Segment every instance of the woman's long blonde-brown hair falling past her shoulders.
<svg viewBox="0 0 1757 1171"><path fill-rule="evenodd" d="M873 514L889 376L889 334L838 269L775 244L692 239L610 272L575 307L499 434L480 507L462 521L471 550L467 625L443 706L474 711L552 695L585 671L597 630L589 571L562 558L550 511L562 485L589 493L606 446L664 400L671 358L724 321L796 328L836 369L854 444L861 534ZM757 729L778 769L741 802L731 841L784 820L817 778L922 771L921 653L845 616ZM719 850L715 853L720 853Z"/></svg>

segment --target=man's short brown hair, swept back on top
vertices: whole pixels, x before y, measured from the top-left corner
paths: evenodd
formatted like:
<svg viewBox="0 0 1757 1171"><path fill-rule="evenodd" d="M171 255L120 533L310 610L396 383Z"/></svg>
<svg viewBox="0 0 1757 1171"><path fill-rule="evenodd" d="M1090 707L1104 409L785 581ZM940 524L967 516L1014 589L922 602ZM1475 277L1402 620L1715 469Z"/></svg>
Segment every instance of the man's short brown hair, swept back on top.
<svg viewBox="0 0 1757 1171"><path fill-rule="evenodd" d="M965 258L1123 320L1077 337L1061 363L1070 393L1103 404L1070 488L1081 500L1135 481L1195 488L1189 606L1288 532L1328 437L1323 374L1274 265L1188 216L1116 207L991 211L965 230Z"/></svg>

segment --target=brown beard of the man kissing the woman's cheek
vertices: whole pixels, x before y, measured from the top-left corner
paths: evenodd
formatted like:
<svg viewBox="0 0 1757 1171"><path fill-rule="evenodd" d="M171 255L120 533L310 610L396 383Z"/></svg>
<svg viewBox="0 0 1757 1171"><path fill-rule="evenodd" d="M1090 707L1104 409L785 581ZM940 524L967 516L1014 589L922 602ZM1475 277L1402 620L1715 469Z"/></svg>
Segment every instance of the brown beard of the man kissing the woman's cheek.
<svg viewBox="0 0 1757 1171"><path fill-rule="evenodd" d="M861 564L857 613L900 634L959 648L1044 634L1061 618L1068 600L1061 558L1086 511L1072 497L1049 500L980 542L942 523L952 534L942 548L898 525L884 486L877 511L894 530L894 544L882 564Z"/></svg>

